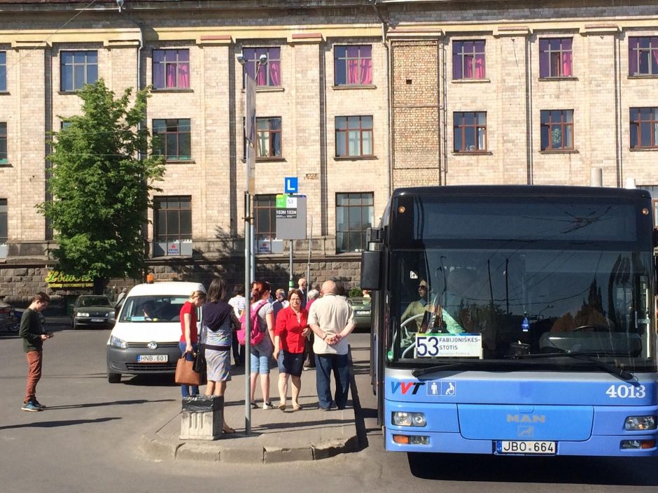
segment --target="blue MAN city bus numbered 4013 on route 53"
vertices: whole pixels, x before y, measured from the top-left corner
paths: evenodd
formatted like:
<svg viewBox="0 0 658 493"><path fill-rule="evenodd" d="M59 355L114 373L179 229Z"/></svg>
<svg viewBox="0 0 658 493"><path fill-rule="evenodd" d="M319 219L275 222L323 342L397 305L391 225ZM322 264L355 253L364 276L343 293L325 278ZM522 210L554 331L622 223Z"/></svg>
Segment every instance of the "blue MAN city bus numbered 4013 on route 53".
<svg viewBox="0 0 658 493"><path fill-rule="evenodd" d="M404 188L367 243L386 450L658 455L648 192Z"/></svg>

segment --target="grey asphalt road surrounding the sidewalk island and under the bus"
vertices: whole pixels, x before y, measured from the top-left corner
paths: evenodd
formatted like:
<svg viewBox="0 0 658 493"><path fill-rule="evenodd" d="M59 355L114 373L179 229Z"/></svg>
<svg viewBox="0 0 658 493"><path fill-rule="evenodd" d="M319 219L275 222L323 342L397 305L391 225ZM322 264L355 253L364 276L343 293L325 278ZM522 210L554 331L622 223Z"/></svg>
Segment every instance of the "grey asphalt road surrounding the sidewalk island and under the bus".
<svg viewBox="0 0 658 493"><path fill-rule="evenodd" d="M50 322L52 323L52 322ZM147 423L179 405L168 378L106 380L106 330L55 329L46 341L41 413L20 410L27 363L0 333L0 492L655 492L658 460L414 456L382 450L367 373L367 334L353 334L363 450L316 462L155 462L137 448ZM303 382L303 376L302 376ZM274 392L274 386L272 387ZM302 392L303 392L302 383ZM229 385L227 399L244 389Z"/></svg>

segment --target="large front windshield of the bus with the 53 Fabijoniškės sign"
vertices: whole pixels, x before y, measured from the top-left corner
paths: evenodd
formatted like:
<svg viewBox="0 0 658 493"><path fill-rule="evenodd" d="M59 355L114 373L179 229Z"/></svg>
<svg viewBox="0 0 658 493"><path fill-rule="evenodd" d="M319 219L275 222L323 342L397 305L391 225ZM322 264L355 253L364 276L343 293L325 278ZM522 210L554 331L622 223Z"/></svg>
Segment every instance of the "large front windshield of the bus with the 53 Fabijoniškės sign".
<svg viewBox="0 0 658 493"><path fill-rule="evenodd" d="M601 371L570 353L656 371L653 256L636 208L527 202L393 208L389 364Z"/></svg>

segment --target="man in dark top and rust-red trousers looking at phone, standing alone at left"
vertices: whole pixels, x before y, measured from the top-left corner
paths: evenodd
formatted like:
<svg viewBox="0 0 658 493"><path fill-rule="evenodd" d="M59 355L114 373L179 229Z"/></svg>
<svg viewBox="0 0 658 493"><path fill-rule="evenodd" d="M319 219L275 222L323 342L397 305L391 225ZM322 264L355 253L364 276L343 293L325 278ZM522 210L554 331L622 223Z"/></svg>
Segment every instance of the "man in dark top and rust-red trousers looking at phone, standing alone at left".
<svg viewBox="0 0 658 493"><path fill-rule="evenodd" d="M50 296L43 292L34 295L30 306L20 319L19 334L23 339L23 350L27 354L27 386L22 410L40 411L45 409L43 404L36 400L36 384L41 379L41 364L43 363L43 341L53 336L46 332L41 325L39 313L45 310L50 303Z"/></svg>

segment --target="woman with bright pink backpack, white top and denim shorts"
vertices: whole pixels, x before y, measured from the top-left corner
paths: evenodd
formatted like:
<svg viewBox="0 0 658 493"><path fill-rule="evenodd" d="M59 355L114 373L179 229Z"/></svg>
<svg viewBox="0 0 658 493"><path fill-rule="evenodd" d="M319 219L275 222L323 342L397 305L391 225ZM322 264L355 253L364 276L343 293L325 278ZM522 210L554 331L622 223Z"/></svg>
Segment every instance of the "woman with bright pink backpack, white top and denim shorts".
<svg viewBox="0 0 658 493"><path fill-rule="evenodd" d="M251 289L251 310L258 313L258 328L263 335L260 343L251 345L251 407L254 409L258 408L255 390L259 375L262 408L274 409L269 401L269 360L274 349L274 309L269 302L269 289L265 281L255 281Z"/></svg>

